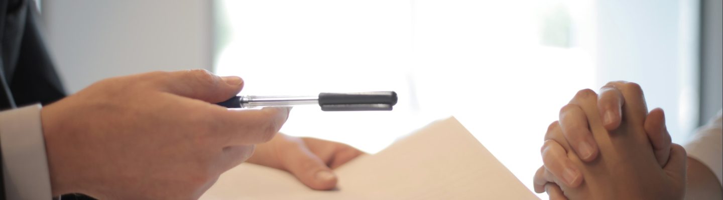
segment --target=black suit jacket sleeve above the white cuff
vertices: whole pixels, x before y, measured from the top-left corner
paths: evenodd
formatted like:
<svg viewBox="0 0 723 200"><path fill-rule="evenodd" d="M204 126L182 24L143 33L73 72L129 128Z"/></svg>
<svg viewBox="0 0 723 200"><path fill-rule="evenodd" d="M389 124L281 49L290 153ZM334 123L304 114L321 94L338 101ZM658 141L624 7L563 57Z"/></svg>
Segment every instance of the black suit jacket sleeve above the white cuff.
<svg viewBox="0 0 723 200"><path fill-rule="evenodd" d="M0 110L50 104L65 96L40 35L36 8L32 0L0 0ZM0 199L5 199L2 178L0 171Z"/></svg>

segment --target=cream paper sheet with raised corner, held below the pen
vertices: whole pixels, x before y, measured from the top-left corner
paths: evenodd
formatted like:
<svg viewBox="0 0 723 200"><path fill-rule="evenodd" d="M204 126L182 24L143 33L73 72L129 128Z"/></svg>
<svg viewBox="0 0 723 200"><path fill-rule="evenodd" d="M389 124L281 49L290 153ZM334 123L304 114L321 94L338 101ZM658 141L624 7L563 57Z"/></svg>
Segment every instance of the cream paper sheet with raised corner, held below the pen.
<svg viewBox="0 0 723 200"><path fill-rule="evenodd" d="M337 189L314 191L285 171L244 163L201 199L538 199L454 117L335 173Z"/></svg>

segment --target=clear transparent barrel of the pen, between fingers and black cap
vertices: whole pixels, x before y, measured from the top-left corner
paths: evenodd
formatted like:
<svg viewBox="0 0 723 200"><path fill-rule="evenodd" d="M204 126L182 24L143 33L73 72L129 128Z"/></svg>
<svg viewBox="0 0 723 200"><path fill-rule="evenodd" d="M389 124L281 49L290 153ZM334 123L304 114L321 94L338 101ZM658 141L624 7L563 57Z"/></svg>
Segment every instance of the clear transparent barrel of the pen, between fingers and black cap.
<svg viewBox="0 0 723 200"><path fill-rule="evenodd" d="M241 98L241 106L244 108L304 104L319 104L319 96L243 96Z"/></svg>

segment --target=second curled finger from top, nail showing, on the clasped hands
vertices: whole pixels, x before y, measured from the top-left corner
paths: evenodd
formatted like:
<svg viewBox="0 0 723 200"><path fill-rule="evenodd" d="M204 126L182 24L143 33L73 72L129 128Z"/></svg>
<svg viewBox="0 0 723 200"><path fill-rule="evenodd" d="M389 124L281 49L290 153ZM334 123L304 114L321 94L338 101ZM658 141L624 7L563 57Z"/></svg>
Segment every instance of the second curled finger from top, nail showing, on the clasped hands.
<svg viewBox="0 0 723 200"><path fill-rule="evenodd" d="M597 157L597 142L589 129L587 116L580 106L576 104L562 106L560 127L562 135L565 135L565 139L581 160L590 161Z"/></svg>

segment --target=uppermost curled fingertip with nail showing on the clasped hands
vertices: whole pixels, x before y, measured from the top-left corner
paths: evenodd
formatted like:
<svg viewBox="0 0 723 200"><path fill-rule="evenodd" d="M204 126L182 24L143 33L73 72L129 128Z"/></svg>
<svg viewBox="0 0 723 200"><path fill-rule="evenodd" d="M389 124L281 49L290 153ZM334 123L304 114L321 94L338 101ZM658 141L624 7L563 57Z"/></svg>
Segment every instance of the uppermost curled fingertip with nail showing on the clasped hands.
<svg viewBox="0 0 723 200"><path fill-rule="evenodd" d="M600 88L597 100L597 109L605 129L613 130L620 126L622 120L622 109L625 98L614 86L606 85Z"/></svg>

